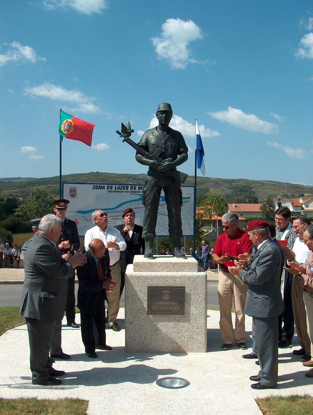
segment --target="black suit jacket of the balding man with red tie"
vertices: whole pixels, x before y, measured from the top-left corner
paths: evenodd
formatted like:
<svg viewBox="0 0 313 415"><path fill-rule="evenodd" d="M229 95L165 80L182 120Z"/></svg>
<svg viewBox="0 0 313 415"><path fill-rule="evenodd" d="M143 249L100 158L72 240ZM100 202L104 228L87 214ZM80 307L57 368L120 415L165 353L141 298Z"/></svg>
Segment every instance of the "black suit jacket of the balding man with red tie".
<svg viewBox="0 0 313 415"><path fill-rule="evenodd" d="M78 266L76 269L79 282L77 307L82 312L92 313L99 301L104 302L105 290L103 289L103 281L99 281L98 267L91 252L85 252L84 257L87 258L86 264ZM104 278L111 280L108 249L99 261L101 261Z"/></svg>

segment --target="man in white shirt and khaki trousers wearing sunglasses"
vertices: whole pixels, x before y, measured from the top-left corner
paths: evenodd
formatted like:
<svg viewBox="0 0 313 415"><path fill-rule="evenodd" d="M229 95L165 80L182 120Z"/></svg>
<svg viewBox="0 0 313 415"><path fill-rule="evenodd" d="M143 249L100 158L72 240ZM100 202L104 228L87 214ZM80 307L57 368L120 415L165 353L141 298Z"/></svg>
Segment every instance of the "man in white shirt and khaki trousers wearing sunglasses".
<svg viewBox="0 0 313 415"><path fill-rule="evenodd" d="M118 260L120 259L120 251L125 251L126 249L126 242L118 229L108 226L108 215L106 212L95 210L91 217L96 226L88 229L86 232L84 246L86 251L88 251L90 242L93 239L100 239L109 251L111 281L116 283L116 289L112 293L106 293L108 299L108 324L112 330L119 332L121 328L118 325L117 315L120 308L121 266L118 264Z"/></svg>

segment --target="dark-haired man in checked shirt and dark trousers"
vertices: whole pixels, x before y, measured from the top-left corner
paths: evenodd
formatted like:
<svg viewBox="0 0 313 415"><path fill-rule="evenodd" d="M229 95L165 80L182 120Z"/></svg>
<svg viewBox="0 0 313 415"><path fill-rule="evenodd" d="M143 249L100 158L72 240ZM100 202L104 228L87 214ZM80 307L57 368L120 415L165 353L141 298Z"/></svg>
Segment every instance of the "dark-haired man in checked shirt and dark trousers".
<svg viewBox="0 0 313 415"><path fill-rule="evenodd" d="M287 248L292 249L296 240L296 233L293 232L291 223L291 211L286 206L281 206L276 210L276 239L278 241L287 241ZM283 305L285 307L283 314L279 317L279 341L278 347L288 347L294 334L294 318L291 302L291 283L292 274L285 272L284 286L283 286ZM283 328L282 327L283 323Z"/></svg>

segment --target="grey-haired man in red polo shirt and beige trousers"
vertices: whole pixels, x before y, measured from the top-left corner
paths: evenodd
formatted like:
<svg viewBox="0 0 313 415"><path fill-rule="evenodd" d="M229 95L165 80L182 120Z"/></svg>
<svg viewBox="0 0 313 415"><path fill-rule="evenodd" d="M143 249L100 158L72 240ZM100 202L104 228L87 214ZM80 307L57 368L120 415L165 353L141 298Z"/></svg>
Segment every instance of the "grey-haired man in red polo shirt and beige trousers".
<svg viewBox="0 0 313 415"><path fill-rule="evenodd" d="M213 261L219 264L219 308L221 319L222 350L228 350L235 341L240 349L246 349L246 332L244 330L244 306L246 304L246 286L237 275L228 271L228 266L234 266L234 259L239 254L251 254L252 242L249 235L239 229L239 218L233 212L222 216L224 233L219 235L213 254ZM232 303L236 309L235 334L232 325Z"/></svg>

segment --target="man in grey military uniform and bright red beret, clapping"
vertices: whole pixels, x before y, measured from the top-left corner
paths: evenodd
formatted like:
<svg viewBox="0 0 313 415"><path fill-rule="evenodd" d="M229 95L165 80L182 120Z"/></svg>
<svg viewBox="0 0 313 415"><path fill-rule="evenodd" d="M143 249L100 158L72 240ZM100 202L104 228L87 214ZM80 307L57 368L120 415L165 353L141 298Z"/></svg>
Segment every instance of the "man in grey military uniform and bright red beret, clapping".
<svg viewBox="0 0 313 415"><path fill-rule="evenodd" d="M253 389L276 388L278 377L278 316L283 312L280 273L281 253L269 239L269 224L261 219L247 223L247 232L256 247L249 271L238 261L229 272L248 285L244 312L253 317L260 371L251 376ZM241 256L242 257L242 256Z"/></svg>

